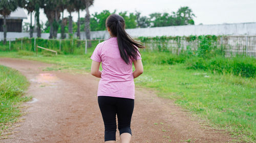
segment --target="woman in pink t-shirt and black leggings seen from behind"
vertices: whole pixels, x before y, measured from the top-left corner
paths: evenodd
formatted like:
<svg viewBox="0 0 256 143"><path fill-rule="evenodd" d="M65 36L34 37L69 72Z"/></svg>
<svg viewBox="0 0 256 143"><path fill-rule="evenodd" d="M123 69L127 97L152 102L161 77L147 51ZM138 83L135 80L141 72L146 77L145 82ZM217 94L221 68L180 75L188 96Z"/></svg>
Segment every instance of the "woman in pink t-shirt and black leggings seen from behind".
<svg viewBox="0 0 256 143"><path fill-rule="evenodd" d="M117 115L121 142L131 142L130 125L135 97L134 78L143 73L138 48L144 47L125 32L124 19L120 15L110 15L106 19L106 27L111 38L99 43L91 56L93 60L91 74L101 78L97 95L105 126L104 138L105 142L115 142ZM102 72L99 71L100 62Z"/></svg>

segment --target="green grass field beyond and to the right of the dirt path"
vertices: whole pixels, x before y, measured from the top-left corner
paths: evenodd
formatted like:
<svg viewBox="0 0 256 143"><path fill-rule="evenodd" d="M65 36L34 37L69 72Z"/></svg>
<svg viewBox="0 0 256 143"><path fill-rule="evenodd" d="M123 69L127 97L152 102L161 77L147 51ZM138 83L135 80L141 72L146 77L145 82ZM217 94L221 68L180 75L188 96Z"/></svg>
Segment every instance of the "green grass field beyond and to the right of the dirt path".
<svg viewBox="0 0 256 143"><path fill-rule="evenodd" d="M55 63L45 70L89 72L90 56L36 56L22 52L0 52L0 56ZM25 52L26 53L26 52ZM187 69L183 62L166 64L154 62L167 53L141 51L144 73L135 79L136 85L157 91L159 97L174 100L178 105L209 122L214 128L225 129L245 142L256 140L256 79L231 73L213 73Z"/></svg>

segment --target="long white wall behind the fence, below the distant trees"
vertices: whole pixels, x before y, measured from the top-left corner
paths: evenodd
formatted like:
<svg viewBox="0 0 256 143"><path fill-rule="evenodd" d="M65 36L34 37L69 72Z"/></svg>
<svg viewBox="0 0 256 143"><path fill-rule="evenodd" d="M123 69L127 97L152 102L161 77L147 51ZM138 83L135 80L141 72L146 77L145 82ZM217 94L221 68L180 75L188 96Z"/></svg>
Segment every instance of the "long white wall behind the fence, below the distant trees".
<svg viewBox="0 0 256 143"><path fill-rule="evenodd" d="M256 35L256 22L234 23L234 24L211 24L211 25L183 25L151 28L133 28L126 32L132 37L155 37L155 36L189 36L189 35ZM75 34L76 36L76 34ZM0 40L4 38L0 32ZM7 33L7 39L29 37L29 33ZM36 37L36 33L33 34ZM42 38L48 39L49 33L42 33ZM60 34L57 35L57 38ZM68 34L66 34L68 37ZM91 39L107 39L109 34L106 31L91 32ZM81 32L81 39L86 39L85 32Z"/></svg>

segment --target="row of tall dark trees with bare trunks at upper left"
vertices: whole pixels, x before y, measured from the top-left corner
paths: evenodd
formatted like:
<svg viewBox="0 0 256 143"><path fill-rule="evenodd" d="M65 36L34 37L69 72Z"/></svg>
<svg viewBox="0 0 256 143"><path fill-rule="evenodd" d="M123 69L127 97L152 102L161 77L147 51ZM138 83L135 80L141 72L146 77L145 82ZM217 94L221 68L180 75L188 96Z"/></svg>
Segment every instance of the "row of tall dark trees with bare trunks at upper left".
<svg viewBox="0 0 256 143"><path fill-rule="evenodd" d="M11 12L15 11L17 7L25 8L30 14L30 37L33 37L32 25L32 12L35 12L36 17L36 32L37 37L41 37L41 25L39 20L39 9L44 9L44 13L47 16L50 25L50 39L57 37L58 28L61 28L61 38L65 38L64 28L67 23L67 19L63 18L63 12L67 10L70 13L69 22L72 23L72 12L78 12L78 24L77 26L77 37L80 38L80 11L85 10L86 15L84 16L84 31L86 31L87 39L90 39L90 13L89 7L92 6L94 0L1 0L0 1L0 14L3 15L4 24L4 43L6 43L6 17L8 17ZM60 16L61 24L59 24ZM70 36L72 36L72 24L69 24Z"/></svg>

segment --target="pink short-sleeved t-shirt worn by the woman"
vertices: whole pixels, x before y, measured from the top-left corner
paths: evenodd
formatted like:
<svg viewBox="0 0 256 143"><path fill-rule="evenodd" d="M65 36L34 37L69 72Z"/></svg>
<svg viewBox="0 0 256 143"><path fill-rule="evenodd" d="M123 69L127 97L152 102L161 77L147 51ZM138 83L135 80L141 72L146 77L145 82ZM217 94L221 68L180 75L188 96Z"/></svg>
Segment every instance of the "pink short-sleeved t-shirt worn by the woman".
<svg viewBox="0 0 256 143"><path fill-rule="evenodd" d="M116 37L99 43L91 59L102 64L98 96L135 98L132 60L129 65L123 61ZM137 60L139 59L141 59L140 54L137 56Z"/></svg>

